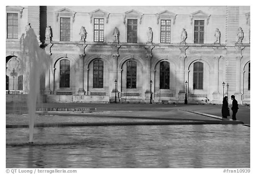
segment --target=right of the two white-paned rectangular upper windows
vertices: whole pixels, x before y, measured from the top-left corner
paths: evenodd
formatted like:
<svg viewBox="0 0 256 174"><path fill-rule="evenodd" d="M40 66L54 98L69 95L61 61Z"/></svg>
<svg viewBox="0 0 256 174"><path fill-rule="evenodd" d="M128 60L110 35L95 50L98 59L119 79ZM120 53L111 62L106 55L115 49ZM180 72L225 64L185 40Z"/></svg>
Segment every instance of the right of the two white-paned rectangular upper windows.
<svg viewBox="0 0 256 174"><path fill-rule="evenodd" d="M161 20L161 43L171 42L171 20Z"/></svg>

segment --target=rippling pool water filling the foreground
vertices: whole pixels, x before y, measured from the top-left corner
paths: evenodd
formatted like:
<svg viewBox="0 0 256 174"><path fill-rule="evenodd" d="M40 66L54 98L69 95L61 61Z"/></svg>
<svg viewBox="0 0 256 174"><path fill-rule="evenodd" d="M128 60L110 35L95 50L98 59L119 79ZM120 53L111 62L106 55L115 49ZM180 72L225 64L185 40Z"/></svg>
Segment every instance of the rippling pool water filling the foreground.
<svg viewBox="0 0 256 174"><path fill-rule="evenodd" d="M250 168L250 128L161 125L6 129L7 168ZM239 159L239 160L237 160Z"/></svg>

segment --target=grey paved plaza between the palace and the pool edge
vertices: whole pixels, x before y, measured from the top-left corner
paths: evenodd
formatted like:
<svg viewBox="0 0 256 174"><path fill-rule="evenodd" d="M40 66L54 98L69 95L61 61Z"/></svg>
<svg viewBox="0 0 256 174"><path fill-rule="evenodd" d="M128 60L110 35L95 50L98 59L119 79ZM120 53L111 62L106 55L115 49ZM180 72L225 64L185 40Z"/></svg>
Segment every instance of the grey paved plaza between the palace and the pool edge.
<svg viewBox="0 0 256 174"><path fill-rule="evenodd" d="M38 108L95 108L92 115L176 119L176 120L220 120L221 104L86 104L86 103L40 103ZM229 106L231 108L232 105ZM6 113L27 112L25 103L6 103ZM194 113L194 114L188 114ZM66 113L71 114L71 113ZM230 110L232 115L232 111ZM196 117L195 117L196 116ZM232 116L228 117L229 119ZM237 120L250 124L250 106L239 105Z"/></svg>

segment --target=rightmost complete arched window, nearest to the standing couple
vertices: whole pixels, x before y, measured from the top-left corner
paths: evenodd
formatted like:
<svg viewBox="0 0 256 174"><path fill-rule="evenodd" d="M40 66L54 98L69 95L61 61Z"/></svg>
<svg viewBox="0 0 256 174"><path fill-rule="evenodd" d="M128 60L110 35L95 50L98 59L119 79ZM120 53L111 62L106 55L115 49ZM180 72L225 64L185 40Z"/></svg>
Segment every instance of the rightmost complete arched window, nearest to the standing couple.
<svg viewBox="0 0 256 174"><path fill-rule="evenodd" d="M193 85L195 89L203 89L204 63L195 62L193 72Z"/></svg>

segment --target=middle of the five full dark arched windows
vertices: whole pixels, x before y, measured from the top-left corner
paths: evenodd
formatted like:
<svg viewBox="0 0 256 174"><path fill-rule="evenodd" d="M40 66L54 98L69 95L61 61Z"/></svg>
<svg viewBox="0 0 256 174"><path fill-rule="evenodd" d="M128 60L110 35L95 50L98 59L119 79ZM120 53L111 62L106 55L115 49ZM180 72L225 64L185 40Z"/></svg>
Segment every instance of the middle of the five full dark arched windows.
<svg viewBox="0 0 256 174"><path fill-rule="evenodd" d="M136 88L137 63L135 61L128 61L126 72L126 88Z"/></svg>

